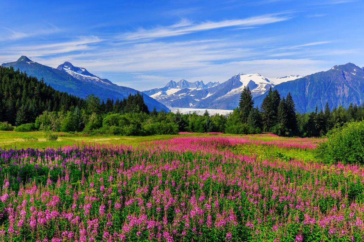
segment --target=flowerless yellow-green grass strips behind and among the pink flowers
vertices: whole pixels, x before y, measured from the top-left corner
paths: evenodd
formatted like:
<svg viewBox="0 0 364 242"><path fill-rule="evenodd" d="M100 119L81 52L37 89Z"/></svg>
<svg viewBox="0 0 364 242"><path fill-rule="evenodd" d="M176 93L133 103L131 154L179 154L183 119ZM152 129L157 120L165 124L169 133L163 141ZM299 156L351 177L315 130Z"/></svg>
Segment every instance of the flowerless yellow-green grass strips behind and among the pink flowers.
<svg viewBox="0 0 364 242"><path fill-rule="evenodd" d="M118 135L94 135L94 136L82 136L82 135L60 135L56 141L47 141L44 136L43 131L33 131L33 132L16 132L16 131L0 131L0 148L17 148L17 149L27 149L27 148L58 148L67 145L73 145L78 143L112 143L112 144L124 144L132 145L133 147L140 147L145 144L145 142L150 142L153 140L165 140L174 137L181 136L246 136L253 140L281 140L281 139L295 139L295 138L285 138L276 136L259 136L259 135L231 135L231 134L221 134L221 135L211 135L211 134L183 134L183 135L152 135L152 136L118 136ZM26 137L34 137L38 140L27 140ZM254 144L243 144L238 145L232 149L235 153L242 153L245 155L255 154L260 158L270 158L290 160L290 159L302 159L304 161L314 160L313 151L310 149L302 150L295 148L279 148L268 145L254 145Z"/></svg>

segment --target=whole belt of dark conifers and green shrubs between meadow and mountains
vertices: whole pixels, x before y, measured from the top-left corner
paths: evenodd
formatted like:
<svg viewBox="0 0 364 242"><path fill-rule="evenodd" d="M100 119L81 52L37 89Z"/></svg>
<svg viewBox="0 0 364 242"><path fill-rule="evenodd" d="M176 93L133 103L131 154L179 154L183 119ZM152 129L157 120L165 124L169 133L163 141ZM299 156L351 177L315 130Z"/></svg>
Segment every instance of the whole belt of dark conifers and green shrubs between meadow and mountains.
<svg viewBox="0 0 364 242"><path fill-rule="evenodd" d="M149 111L139 92L123 99L100 100L60 92L43 79L28 76L13 67L0 67L0 130L52 130L91 134L150 135L189 132L258 134L281 136L322 136L336 124L363 119L363 105L350 105L300 114L290 93L281 97L274 89L260 107L254 107L249 87L244 87L239 106L229 115L203 115L195 112ZM7 123L4 123L7 122Z"/></svg>

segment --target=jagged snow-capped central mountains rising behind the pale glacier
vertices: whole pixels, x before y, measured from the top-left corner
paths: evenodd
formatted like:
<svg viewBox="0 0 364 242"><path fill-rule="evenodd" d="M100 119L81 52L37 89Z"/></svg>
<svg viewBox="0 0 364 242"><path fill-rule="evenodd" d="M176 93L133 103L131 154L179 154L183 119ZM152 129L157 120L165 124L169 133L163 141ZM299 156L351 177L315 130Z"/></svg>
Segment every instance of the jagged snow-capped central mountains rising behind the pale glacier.
<svg viewBox="0 0 364 242"><path fill-rule="evenodd" d="M263 77L258 73L234 75L226 82L179 82L170 81L165 87L144 91L150 97L167 107L233 109L237 107L240 93L244 86L252 90L253 97L265 93L270 87L282 82L301 78L299 75L288 75L281 78Z"/></svg>

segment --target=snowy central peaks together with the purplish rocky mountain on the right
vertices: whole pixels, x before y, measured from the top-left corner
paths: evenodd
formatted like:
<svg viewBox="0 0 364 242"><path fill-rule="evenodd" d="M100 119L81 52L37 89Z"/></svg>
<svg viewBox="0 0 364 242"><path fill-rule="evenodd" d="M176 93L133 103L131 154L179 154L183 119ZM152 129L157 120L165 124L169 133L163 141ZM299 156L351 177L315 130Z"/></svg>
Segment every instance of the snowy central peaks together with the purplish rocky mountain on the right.
<svg viewBox="0 0 364 242"><path fill-rule="evenodd" d="M199 85L198 85L199 84ZM167 107L207 108L232 110L239 104L244 86L252 91L254 106L262 103L269 88L277 89L281 97L290 93L298 112L311 112L329 107L347 108L350 103L364 101L364 67L352 63L335 65L330 70L305 77L288 75L281 78L263 77L258 73L234 75L229 80L219 82L179 82L170 81L165 87L144 91Z"/></svg>

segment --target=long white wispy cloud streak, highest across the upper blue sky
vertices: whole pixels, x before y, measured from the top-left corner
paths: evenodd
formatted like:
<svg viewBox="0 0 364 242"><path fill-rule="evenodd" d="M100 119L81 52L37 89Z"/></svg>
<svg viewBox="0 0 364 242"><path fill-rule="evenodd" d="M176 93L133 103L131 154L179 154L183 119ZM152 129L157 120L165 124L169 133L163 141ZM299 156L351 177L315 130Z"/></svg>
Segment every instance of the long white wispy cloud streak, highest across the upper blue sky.
<svg viewBox="0 0 364 242"><path fill-rule="evenodd" d="M178 24L158 27L154 29L139 29L137 32L125 33L119 36L120 40L143 40L143 39L155 39L171 36L179 36L183 34L190 34L200 31L206 31L211 29L232 27L232 26L254 26L264 25L274 22L280 22L290 19L288 16L278 15L261 15L257 17L250 17L246 19L237 20L223 20L223 21L209 21L194 24L188 20L182 20Z"/></svg>

